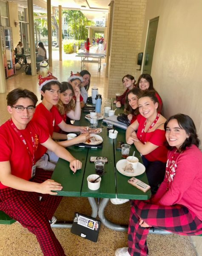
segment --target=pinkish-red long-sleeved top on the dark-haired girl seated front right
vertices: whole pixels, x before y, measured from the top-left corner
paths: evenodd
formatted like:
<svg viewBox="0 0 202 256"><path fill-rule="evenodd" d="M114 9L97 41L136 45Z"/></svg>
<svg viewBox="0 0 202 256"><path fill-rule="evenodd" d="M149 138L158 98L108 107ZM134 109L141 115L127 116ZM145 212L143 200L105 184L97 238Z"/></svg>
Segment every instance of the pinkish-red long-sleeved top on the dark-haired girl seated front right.
<svg viewBox="0 0 202 256"><path fill-rule="evenodd" d="M180 153L168 152L168 161L174 154L177 158L168 169L152 202L160 205L180 204L196 214L202 220L202 152L195 145ZM166 190L168 186L168 190Z"/></svg>

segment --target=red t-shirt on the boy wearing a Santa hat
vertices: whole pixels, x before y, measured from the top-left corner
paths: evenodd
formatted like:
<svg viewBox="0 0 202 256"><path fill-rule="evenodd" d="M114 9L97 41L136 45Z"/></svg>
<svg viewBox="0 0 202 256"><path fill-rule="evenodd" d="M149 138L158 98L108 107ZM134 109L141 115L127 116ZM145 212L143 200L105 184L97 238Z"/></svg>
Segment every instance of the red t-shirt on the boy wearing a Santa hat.
<svg viewBox="0 0 202 256"><path fill-rule="evenodd" d="M52 137L54 125L60 124L63 119L60 116L57 108L53 106L49 111L41 102L37 105L36 111L33 116L33 121L39 123L48 135ZM39 145L36 152L36 159L39 160L47 151L43 145Z"/></svg>

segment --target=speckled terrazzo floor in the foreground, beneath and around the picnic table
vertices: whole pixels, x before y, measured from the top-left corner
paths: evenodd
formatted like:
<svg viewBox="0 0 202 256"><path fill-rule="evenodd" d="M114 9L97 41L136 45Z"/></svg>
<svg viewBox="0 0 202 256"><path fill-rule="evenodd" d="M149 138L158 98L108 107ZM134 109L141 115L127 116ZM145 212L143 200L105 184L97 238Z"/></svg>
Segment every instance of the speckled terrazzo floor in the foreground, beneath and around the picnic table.
<svg viewBox="0 0 202 256"><path fill-rule="evenodd" d="M109 202L105 216L116 223L127 224L129 210L129 203L113 205ZM63 198L55 215L58 220L71 221L76 211L91 214L87 198ZM76 236L69 229L54 228L54 233L68 256L114 256L117 248L127 246L126 232L109 230L103 225L97 243ZM19 223L0 225L0 234L0 256L43 255L35 236ZM186 236L151 234L148 236L148 248L149 256L196 256L190 238Z"/></svg>

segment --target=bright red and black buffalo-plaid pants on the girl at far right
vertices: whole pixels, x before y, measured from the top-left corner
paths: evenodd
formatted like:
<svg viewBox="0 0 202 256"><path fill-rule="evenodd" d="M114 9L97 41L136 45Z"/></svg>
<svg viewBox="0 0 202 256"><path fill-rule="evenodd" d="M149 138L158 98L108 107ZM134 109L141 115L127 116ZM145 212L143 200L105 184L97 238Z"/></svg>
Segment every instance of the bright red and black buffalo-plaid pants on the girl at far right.
<svg viewBox="0 0 202 256"><path fill-rule="evenodd" d="M186 207L160 206L149 201L131 200L128 226L128 253L131 256L148 255L149 228L139 225L139 218L152 227L168 230L182 236L202 234L202 221Z"/></svg>

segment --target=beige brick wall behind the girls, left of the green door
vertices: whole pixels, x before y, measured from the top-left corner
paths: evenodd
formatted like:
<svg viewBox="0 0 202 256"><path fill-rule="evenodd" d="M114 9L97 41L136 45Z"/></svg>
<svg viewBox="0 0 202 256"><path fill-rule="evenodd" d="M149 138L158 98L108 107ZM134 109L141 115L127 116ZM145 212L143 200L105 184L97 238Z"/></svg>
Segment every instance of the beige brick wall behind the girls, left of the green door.
<svg viewBox="0 0 202 256"><path fill-rule="evenodd" d="M147 0L114 0L108 97L124 92L122 77L136 76Z"/></svg>

